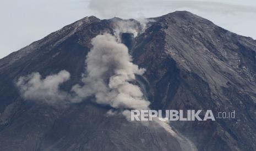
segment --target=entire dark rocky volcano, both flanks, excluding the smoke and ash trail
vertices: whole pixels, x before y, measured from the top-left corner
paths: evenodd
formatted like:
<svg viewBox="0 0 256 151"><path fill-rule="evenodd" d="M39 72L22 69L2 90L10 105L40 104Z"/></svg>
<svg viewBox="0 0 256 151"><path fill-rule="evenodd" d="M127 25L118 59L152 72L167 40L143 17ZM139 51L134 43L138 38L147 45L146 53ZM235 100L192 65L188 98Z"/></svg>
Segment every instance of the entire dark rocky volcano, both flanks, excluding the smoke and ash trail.
<svg viewBox="0 0 256 151"><path fill-rule="evenodd" d="M114 34L116 20L86 17L0 60L0 150L188 149L163 129L106 117L108 106L20 97L14 81L32 72L45 77L66 69L71 78L61 89L79 83L91 39ZM151 108L236 111L235 119L173 121L177 132L198 150L255 150L255 40L187 11L154 18L137 37L121 35L133 62L146 69L137 80Z"/></svg>

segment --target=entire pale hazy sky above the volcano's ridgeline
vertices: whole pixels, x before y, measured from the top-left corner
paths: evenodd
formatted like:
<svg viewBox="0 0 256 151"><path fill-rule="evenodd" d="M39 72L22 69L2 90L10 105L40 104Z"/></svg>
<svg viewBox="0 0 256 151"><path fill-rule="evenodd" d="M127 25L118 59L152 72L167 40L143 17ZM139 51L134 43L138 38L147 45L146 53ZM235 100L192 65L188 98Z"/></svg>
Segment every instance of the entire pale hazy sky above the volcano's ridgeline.
<svg viewBox="0 0 256 151"><path fill-rule="evenodd" d="M256 39L255 0L1 0L0 58L85 16L155 17L175 10Z"/></svg>

